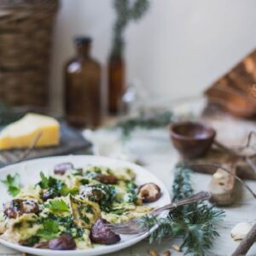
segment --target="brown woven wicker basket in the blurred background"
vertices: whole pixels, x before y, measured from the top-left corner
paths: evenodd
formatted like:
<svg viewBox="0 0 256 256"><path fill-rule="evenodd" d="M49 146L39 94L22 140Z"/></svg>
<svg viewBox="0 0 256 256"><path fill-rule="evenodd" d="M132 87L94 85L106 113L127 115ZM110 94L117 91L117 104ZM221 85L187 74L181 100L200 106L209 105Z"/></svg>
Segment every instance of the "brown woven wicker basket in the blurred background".
<svg viewBox="0 0 256 256"><path fill-rule="evenodd" d="M0 0L0 101L48 107L51 32L58 0Z"/></svg>

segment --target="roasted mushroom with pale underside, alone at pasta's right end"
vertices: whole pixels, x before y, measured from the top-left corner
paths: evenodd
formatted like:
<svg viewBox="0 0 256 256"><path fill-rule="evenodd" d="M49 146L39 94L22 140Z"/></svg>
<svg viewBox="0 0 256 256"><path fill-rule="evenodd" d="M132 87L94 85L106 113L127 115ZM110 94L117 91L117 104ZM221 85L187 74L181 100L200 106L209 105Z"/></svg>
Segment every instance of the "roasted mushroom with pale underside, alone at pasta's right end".
<svg viewBox="0 0 256 256"><path fill-rule="evenodd" d="M161 189L155 183L146 183L139 187L138 198L143 202L153 202L160 199Z"/></svg>

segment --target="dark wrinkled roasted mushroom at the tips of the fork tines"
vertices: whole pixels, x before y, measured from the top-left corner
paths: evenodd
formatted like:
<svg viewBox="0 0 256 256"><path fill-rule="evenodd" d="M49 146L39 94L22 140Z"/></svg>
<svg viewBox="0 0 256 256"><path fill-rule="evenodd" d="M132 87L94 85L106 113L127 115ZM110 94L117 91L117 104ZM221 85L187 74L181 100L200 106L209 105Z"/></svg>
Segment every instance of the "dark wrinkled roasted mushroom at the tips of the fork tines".
<svg viewBox="0 0 256 256"><path fill-rule="evenodd" d="M107 220L99 218L96 224L92 226L90 233L90 240L100 244L114 244L121 240L120 236L113 233L104 224L107 224Z"/></svg>

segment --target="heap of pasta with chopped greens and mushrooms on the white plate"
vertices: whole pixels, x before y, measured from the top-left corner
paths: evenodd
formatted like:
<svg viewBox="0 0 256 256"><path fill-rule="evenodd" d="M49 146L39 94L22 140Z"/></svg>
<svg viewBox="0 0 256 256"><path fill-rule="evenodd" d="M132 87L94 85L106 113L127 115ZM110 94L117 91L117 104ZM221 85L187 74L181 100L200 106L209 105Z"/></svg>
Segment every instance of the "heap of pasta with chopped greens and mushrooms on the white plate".
<svg viewBox="0 0 256 256"><path fill-rule="evenodd" d="M65 163L55 166L52 175L41 172L40 177L3 205L3 239L27 247L86 249L120 240L111 230L111 239L94 239L96 223L121 223L152 211L143 205L130 168L74 168Z"/></svg>

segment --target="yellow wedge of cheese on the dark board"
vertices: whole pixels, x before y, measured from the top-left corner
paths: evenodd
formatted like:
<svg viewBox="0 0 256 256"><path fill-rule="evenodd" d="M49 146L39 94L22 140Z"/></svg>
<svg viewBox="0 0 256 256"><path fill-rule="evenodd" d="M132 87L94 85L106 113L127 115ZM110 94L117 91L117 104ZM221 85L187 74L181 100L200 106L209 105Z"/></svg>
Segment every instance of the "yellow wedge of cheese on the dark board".
<svg viewBox="0 0 256 256"><path fill-rule="evenodd" d="M6 126L0 132L0 149L28 148L37 137L37 148L58 145L58 121L38 113L27 113L22 119Z"/></svg>

